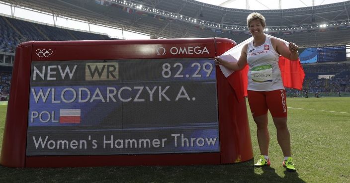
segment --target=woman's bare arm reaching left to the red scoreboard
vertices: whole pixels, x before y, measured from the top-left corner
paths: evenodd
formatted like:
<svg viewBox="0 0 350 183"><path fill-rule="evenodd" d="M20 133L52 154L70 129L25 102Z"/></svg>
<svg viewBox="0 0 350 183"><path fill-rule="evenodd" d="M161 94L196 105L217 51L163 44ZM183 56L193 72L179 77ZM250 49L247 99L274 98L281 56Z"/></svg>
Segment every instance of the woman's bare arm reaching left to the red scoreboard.
<svg viewBox="0 0 350 183"><path fill-rule="evenodd" d="M248 44L244 45L241 51L241 56L238 59L238 62L228 62L222 58L215 57L215 65L222 65L226 67L227 69L233 70L233 71L239 71L243 69L247 65L247 48Z"/></svg>

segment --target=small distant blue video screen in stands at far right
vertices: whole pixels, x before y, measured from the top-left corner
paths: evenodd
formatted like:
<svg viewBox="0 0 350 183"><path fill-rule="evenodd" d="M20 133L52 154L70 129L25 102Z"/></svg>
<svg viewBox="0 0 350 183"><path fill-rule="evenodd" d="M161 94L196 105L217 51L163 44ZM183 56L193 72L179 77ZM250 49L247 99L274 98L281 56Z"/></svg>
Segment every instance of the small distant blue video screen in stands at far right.
<svg viewBox="0 0 350 183"><path fill-rule="evenodd" d="M346 45L317 48L318 62L347 61Z"/></svg>

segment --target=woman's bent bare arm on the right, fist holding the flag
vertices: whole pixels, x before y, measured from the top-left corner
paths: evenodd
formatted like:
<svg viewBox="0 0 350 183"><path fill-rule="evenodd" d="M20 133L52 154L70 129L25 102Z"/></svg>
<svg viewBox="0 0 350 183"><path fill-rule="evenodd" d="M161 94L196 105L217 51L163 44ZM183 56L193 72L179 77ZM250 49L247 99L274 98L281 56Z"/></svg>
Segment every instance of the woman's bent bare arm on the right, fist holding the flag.
<svg viewBox="0 0 350 183"><path fill-rule="evenodd" d="M279 53L285 58L288 58L289 60L298 60L298 45L296 45L295 43L289 43L287 47L287 45L285 45L284 42L277 39L271 39L271 42L272 44L276 45L277 53Z"/></svg>

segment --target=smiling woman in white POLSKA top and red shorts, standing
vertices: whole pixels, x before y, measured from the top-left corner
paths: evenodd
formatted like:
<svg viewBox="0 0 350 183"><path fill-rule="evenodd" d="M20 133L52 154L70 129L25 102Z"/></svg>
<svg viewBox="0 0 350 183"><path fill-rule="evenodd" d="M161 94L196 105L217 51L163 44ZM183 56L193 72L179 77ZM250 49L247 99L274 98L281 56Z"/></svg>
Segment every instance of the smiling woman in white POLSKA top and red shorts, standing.
<svg viewBox="0 0 350 183"><path fill-rule="evenodd" d="M288 171L295 171L287 128L286 92L278 67L278 59L279 55L282 55L290 60L298 60L299 47L294 43L289 43L288 48L284 42L266 36L263 33L265 18L260 13L253 12L248 15L247 24L254 39L243 46L238 62L228 62L219 57L214 60L216 65L223 65L234 71L249 65L248 101L258 127L257 136L261 152L260 159L255 166L270 165L267 128L267 111L269 110L277 129L277 141L284 155L283 166ZM257 69L254 70L254 68Z"/></svg>

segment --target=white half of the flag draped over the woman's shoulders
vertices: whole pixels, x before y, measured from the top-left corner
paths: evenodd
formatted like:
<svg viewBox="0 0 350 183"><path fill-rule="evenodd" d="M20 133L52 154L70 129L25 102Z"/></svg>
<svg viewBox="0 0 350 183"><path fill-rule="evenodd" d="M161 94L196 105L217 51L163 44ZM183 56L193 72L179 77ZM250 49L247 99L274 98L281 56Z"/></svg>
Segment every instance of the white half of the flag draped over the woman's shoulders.
<svg viewBox="0 0 350 183"><path fill-rule="evenodd" d="M271 35L268 35L268 34L265 34L265 36L267 37L270 37L270 38L274 38L274 39L277 39L277 40L280 40L280 41L283 41L287 47L289 46L289 42L283 40L283 39L280 39L280 38L277 38L277 37L273 37ZM238 59L240 58L241 56L241 52L242 52L242 48L245 44L251 42L252 40L254 39L254 37L250 37L248 38L247 40L243 41L242 43L236 45L235 47L231 48L230 50L228 50L227 52L223 53L222 55L218 56L219 58L222 58L228 62L238 62ZM220 65L220 69L222 71L222 73L224 74L224 76L227 78L229 77L234 71L230 70L230 69L227 69L226 67Z"/></svg>

